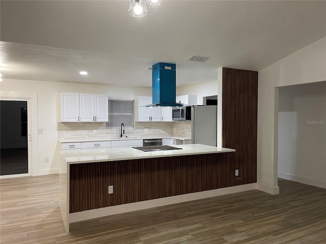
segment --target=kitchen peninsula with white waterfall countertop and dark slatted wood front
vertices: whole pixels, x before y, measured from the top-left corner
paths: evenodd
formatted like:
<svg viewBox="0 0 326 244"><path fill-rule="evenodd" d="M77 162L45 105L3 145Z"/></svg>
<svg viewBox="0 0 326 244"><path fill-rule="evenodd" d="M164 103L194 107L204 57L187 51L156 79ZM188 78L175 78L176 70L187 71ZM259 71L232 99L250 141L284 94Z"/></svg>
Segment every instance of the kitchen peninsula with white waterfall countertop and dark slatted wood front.
<svg viewBox="0 0 326 244"><path fill-rule="evenodd" d="M234 149L201 144L175 147L182 149L62 151L60 210L67 233L73 222L71 215L97 218L110 215L110 208L121 204L226 187L224 180L230 175L225 167L232 160ZM109 190L109 186L113 187ZM113 193L108 194L110 191ZM169 203L161 205L166 204ZM96 210L101 214L95 214Z"/></svg>

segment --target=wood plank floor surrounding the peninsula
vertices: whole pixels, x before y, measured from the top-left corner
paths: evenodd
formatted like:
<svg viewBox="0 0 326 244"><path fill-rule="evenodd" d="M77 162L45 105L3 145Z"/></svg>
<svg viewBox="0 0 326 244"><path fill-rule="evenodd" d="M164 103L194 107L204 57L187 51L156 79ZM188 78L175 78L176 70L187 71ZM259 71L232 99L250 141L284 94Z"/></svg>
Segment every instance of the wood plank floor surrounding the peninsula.
<svg viewBox="0 0 326 244"><path fill-rule="evenodd" d="M75 223L65 233L58 175L2 179L1 243L326 243L326 190L279 180L258 190Z"/></svg>

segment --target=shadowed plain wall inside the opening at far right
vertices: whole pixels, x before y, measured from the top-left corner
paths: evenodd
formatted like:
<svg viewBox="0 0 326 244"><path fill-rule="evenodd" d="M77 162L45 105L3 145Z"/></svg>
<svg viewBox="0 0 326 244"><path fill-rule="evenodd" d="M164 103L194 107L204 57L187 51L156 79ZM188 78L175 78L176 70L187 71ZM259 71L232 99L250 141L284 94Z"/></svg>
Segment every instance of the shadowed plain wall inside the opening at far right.
<svg viewBox="0 0 326 244"><path fill-rule="evenodd" d="M326 82L279 89L278 175L326 188Z"/></svg>

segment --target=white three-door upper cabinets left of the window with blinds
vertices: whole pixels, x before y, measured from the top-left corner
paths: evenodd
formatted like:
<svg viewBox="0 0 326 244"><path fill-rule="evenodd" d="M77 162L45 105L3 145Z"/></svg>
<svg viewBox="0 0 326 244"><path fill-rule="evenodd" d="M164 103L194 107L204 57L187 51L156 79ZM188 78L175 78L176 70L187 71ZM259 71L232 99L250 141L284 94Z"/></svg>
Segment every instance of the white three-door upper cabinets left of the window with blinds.
<svg viewBox="0 0 326 244"><path fill-rule="evenodd" d="M61 122L108 121L108 98L98 94L61 94Z"/></svg>

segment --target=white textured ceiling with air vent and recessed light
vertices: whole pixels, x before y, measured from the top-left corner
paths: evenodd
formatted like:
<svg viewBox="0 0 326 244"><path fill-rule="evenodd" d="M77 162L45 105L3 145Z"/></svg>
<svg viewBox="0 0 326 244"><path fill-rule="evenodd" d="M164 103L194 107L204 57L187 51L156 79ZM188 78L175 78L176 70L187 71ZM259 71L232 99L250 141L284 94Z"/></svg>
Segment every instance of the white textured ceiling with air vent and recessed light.
<svg viewBox="0 0 326 244"><path fill-rule="evenodd" d="M145 68L167 62L180 87L215 80L219 67L259 71L326 36L326 1L165 1L142 18L126 0L0 7L5 79L149 87Z"/></svg>

